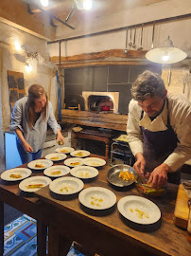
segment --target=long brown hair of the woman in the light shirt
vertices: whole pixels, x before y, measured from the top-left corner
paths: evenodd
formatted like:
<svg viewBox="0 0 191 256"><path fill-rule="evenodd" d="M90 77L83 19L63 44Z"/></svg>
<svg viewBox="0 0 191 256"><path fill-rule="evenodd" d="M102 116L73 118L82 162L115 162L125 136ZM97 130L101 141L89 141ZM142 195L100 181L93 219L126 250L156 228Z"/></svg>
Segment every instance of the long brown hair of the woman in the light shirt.
<svg viewBox="0 0 191 256"><path fill-rule="evenodd" d="M43 86L40 84L32 84L28 88L28 99L27 99L27 116L28 116L28 124L29 127L32 128L32 126L35 124L36 121L36 113L35 113L35 99L41 98L43 95L46 97L46 103L42 110L43 120L45 121L46 118L46 112L47 112L47 94L45 90L43 89Z"/></svg>

